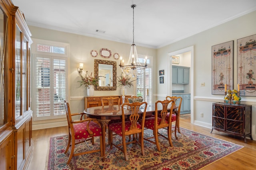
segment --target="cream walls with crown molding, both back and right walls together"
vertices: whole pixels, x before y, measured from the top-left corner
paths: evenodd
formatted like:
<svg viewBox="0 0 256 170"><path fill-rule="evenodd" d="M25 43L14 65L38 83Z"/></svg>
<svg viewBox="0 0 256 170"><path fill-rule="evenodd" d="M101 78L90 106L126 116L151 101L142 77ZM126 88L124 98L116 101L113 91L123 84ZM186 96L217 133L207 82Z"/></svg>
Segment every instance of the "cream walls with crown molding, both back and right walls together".
<svg viewBox="0 0 256 170"><path fill-rule="evenodd" d="M150 49L146 47L137 46L138 54L148 55L154 57L153 62L153 100L157 100L158 96L167 94L166 89L168 84L159 84L158 70L167 70L169 64L168 53L178 51L186 47L194 46L194 74L190 78L194 81L193 93L194 96L194 110L192 114L194 117L193 122L202 126L211 127L212 124L212 103L222 102L224 96L211 94L211 53L212 46L227 41L234 40L234 84L237 84L237 44L236 40L256 34L256 11L228 21L214 28L208 29L181 41L166 45L159 49ZM70 44L70 102L72 106L71 112L80 112L84 108L83 96L86 95L85 89L80 87L78 80L80 80L77 67L79 62L84 63L84 71L94 72L94 59L103 59L98 56L93 58L90 56L91 50L99 51L101 48L107 48L112 53L119 53L122 57L127 57L130 53L130 44L118 43L104 39L97 39L93 37L86 37L72 33L64 33L61 31L54 31L34 26L29 26L32 33L32 38L45 39L50 41L58 41ZM189 29L189 27L188 27ZM111 61L116 61L110 58ZM119 64L119 62L117 62ZM121 74L118 66L117 74ZM168 76L168 73L167 75ZM200 86L201 82L205 82L205 86ZM132 94L133 90L130 89L128 94ZM116 91L96 91L95 96L102 95L119 95L120 90ZM160 97L161 98L161 97ZM256 103L255 97L242 96L242 103L252 105L252 125L256 125ZM204 113L204 117L200 117L200 113ZM255 128L255 127L254 127ZM256 131L256 129L254 129ZM255 134L253 134L256 139Z"/></svg>

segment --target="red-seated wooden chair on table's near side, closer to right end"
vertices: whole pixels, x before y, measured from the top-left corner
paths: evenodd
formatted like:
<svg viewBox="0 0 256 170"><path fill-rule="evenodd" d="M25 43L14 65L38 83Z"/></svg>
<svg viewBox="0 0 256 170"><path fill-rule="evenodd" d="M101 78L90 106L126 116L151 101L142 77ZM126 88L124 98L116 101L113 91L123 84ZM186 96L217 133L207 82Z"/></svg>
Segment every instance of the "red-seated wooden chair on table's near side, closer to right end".
<svg viewBox="0 0 256 170"><path fill-rule="evenodd" d="M168 139L170 146L172 147L172 121L171 119L166 119L168 114L168 105L171 103L170 112L174 107L174 100L163 100L156 101L155 103L155 114L154 117L148 117L145 119L144 127L146 129L151 129L153 131L152 137L144 138L146 141L156 144L156 148L160 151L160 146L158 142L158 136L162 136ZM162 105L162 110L158 113L158 104ZM168 137L160 134L158 129L167 128ZM150 140L151 138L155 138L155 141Z"/></svg>

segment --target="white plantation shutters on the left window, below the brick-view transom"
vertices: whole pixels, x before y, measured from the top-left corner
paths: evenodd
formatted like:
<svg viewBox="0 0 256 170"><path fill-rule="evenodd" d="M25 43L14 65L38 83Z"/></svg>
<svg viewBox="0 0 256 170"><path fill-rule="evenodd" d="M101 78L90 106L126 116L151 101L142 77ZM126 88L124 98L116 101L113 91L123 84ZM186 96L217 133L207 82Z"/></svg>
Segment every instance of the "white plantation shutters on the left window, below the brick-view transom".
<svg viewBox="0 0 256 170"><path fill-rule="evenodd" d="M65 115L66 59L40 56L34 60L35 119L52 119Z"/></svg>

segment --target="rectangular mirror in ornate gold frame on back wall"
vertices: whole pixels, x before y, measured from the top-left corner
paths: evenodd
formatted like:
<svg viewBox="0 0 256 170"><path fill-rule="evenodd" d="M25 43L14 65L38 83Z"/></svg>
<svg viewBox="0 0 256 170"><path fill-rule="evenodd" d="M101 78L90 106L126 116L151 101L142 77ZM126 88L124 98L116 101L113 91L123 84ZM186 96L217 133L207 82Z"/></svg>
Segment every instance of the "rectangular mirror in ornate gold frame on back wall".
<svg viewBox="0 0 256 170"><path fill-rule="evenodd" d="M94 76L99 77L94 90L116 90L116 61L94 59Z"/></svg>

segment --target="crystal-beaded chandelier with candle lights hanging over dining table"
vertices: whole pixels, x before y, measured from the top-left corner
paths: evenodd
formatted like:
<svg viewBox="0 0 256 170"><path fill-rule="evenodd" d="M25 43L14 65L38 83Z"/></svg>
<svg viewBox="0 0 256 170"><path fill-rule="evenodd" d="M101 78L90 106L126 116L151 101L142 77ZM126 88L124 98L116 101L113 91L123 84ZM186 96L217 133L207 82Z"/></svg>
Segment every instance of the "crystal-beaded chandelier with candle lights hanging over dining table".
<svg viewBox="0 0 256 170"><path fill-rule="evenodd" d="M136 45L134 44L134 8L136 7L136 5L131 5L132 9L133 9L133 30L132 30L132 34L133 34L133 41L132 41L132 46L131 46L131 51L130 51L130 56L129 56L129 60L126 63L126 65L124 65L124 60L120 61L120 68L122 69L122 72L126 75L131 74L132 77L135 77L136 75L140 75L143 74L145 69L147 68L147 57L145 59L145 64L142 65L139 61L138 58L138 53L137 53L137 49L136 49ZM142 61L143 63L143 61Z"/></svg>

